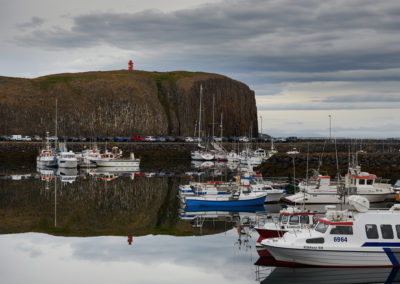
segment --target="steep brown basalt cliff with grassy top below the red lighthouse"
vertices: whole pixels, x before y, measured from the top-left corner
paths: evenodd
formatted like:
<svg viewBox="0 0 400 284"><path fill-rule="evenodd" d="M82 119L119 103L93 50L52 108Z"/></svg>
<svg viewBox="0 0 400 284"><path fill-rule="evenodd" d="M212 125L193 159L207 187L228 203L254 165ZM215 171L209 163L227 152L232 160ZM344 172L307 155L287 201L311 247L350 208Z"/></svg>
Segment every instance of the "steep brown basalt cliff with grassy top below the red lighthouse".
<svg viewBox="0 0 400 284"><path fill-rule="evenodd" d="M193 136L200 86L206 135L213 108L216 135L221 113L224 135L249 135L250 127L258 133L254 92L241 82L201 72L120 70L0 77L0 134L54 133L57 109L62 136Z"/></svg>

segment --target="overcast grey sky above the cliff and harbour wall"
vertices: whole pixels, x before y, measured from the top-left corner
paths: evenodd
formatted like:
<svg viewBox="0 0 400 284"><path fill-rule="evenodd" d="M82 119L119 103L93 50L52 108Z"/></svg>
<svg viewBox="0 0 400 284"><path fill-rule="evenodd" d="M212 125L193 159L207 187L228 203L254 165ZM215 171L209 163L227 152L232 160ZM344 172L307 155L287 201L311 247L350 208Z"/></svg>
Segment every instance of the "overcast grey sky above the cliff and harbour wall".
<svg viewBox="0 0 400 284"><path fill-rule="evenodd" d="M0 0L0 75L132 59L246 83L274 136L400 137L399 31L398 0Z"/></svg>

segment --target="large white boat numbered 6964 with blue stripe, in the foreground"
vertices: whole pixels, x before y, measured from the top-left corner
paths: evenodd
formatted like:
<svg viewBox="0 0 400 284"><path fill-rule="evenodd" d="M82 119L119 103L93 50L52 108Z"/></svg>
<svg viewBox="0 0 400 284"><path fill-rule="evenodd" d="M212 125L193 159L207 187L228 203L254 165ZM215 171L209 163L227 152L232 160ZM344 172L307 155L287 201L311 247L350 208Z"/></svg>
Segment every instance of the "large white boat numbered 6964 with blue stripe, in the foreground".
<svg viewBox="0 0 400 284"><path fill-rule="evenodd" d="M349 209L327 206L313 229L287 232L261 244L278 261L329 267L400 265L400 205L368 210L369 202L350 196Z"/></svg>

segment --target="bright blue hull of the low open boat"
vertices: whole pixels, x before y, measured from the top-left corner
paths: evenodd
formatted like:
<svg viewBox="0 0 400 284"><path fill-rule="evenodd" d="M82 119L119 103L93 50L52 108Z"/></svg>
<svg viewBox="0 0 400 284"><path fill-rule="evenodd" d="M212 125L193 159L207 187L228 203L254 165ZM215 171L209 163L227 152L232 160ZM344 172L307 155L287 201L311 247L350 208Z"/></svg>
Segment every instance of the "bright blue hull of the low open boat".
<svg viewBox="0 0 400 284"><path fill-rule="evenodd" d="M201 198L186 198L187 206L260 206L265 202L266 196L261 196L252 199L238 199L238 200L226 200L219 199L201 199Z"/></svg>

